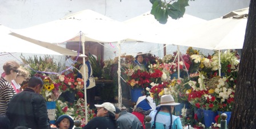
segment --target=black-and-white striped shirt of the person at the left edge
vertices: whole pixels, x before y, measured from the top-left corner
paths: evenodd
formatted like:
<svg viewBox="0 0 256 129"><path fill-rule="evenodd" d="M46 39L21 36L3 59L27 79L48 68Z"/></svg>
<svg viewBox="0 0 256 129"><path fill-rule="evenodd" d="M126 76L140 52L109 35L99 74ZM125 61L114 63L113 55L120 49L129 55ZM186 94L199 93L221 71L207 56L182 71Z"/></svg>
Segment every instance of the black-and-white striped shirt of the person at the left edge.
<svg viewBox="0 0 256 129"><path fill-rule="evenodd" d="M16 94L13 86L7 82L3 77L0 79L0 114L5 114L7 109L7 103L11 97Z"/></svg>

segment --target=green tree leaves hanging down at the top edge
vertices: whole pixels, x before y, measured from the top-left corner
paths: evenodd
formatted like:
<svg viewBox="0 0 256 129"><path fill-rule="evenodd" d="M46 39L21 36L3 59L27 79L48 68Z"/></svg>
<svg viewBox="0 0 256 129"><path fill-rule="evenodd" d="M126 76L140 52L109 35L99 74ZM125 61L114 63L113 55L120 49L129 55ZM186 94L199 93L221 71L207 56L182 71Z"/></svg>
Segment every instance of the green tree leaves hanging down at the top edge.
<svg viewBox="0 0 256 129"><path fill-rule="evenodd" d="M189 6L189 0L177 0L171 3L161 0L150 0L152 5L151 14L159 23L165 24L169 16L173 19L179 19L185 14L185 7Z"/></svg>

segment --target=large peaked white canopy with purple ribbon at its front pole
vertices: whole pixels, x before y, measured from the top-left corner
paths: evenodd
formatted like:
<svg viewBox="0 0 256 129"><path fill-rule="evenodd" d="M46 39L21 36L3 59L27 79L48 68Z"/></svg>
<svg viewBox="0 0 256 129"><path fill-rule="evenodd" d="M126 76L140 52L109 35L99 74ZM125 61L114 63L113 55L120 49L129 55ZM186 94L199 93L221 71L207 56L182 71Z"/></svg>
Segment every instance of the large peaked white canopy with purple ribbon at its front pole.
<svg viewBox="0 0 256 129"><path fill-rule="evenodd" d="M127 38L125 25L92 10L83 10L53 22L17 30L19 38L31 38L49 43L65 41L113 42Z"/></svg>

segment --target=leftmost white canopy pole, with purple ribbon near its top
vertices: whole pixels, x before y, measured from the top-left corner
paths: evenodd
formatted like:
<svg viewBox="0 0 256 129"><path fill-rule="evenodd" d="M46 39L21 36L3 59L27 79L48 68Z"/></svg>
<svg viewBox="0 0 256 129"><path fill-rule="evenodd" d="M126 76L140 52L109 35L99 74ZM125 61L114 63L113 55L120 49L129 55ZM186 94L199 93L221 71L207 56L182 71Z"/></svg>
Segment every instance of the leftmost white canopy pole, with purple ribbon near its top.
<svg viewBox="0 0 256 129"><path fill-rule="evenodd" d="M83 55L85 55L85 36L82 35L82 48L83 48ZM89 58L89 57L88 57ZM87 118L87 98L86 98L86 73L85 73L85 56L83 56L83 91L85 92L85 123L87 124L88 118Z"/></svg>

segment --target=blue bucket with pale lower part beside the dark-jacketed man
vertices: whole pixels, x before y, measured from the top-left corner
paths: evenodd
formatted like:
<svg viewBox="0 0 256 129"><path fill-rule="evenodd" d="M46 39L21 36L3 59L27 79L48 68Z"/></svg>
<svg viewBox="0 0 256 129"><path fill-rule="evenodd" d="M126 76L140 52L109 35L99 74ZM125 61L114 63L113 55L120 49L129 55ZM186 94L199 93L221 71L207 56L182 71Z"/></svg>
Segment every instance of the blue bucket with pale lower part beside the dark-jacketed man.
<svg viewBox="0 0 256 129"><path fill-rule="evenodd" d="M55 123L55 114L56 114L56 101L46 102L48 118L50 119L50 123Z"/></svg>

